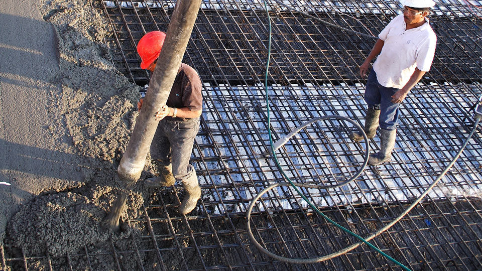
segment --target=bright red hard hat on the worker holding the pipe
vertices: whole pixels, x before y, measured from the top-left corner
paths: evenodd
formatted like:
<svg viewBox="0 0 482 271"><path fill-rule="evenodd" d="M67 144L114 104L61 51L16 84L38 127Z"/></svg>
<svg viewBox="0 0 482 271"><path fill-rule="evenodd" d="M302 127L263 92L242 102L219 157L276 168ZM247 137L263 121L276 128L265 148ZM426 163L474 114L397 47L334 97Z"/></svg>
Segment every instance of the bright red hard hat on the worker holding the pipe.
<svg viewBox="0 0 482 271"><path fill-rule="evenodd" d="M137 53L141 57L141 68L146 69L161 53L166 34L161 31L149 32L137 44Z"/></svg>

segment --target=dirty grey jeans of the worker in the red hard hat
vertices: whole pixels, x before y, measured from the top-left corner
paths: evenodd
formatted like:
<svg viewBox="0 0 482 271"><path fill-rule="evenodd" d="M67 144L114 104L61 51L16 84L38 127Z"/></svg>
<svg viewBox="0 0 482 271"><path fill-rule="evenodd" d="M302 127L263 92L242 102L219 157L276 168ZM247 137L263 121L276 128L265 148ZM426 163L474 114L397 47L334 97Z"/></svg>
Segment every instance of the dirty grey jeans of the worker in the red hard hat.
<svg viewBox="0 0 482 271"><path fill-rule="evenodd" d="M172 162L172 175L176 181L182 182L193 173L189 159L198 130L198 117L165 117L159 121L151 144L151 157L165 165Z"/></svg>

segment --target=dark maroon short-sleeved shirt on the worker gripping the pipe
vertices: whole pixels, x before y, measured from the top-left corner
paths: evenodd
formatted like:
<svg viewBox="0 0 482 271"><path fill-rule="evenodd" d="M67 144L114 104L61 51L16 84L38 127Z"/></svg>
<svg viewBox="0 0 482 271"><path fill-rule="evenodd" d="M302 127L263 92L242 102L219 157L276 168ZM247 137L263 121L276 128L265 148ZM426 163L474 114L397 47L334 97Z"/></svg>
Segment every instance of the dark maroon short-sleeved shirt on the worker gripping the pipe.
<svg viewBox="0 0 482 271"><path fill-rule="evenodd" d="M167 106L188 107L191 111L202 109L202 83L197 72L189 65L181 63L171 88Z"/></svg>

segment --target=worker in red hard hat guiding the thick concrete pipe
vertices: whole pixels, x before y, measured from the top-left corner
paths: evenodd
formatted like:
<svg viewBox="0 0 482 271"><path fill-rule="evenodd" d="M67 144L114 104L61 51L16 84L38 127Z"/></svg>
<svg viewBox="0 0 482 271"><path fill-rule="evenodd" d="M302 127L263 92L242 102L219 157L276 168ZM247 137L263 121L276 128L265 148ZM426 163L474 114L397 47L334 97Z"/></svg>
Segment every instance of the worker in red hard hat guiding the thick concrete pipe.
<svg viewBox="0 0 482 271"><path fill-rule="evenodd" d="M165 37L163 32L153 31L141 38L137 45L142 60L141 68L154 72ZM201 197L196 171L189 164L202 112L201 88L197 72L181 63L166 104L155 115L159 125L150 152L152 159L158 163L161 174L144 181L151 188L181 182L186 193L179 206L182 214L191 212ZM138 102L139 110L142 103L143 99Z"/></svg>

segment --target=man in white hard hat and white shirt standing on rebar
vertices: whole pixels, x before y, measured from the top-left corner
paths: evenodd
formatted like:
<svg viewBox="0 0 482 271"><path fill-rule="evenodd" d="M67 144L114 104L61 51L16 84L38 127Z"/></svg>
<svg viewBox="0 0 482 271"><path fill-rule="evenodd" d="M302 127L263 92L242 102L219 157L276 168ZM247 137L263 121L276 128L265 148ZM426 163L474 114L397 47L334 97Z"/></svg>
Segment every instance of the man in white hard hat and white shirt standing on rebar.
<svg viewBox="0 0 482 271"><path fill-rule="evenodd" d="M395 17L380 34L372 51L360 66L360 76L370 68L365 101L368 104L365 117L365 133L369 139L375 137L380 125L380 151L370 155L368 163L380 165L390 161L395 146L399 118L399 106L410 90L430 70L435 54L437 36L427 16L435 6L432 0L400 0L403 14ZM359 133L352 132L354 141L363 140Z"/></svg>

